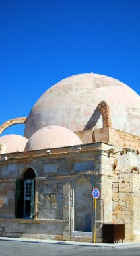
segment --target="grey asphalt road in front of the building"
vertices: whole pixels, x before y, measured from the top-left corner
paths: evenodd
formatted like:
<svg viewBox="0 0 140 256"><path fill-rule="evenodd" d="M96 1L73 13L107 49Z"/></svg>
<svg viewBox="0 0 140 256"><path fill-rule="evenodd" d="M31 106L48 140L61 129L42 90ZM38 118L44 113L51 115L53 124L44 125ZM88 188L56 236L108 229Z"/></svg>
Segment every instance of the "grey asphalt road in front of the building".
<svg viewBox="0 0 140 256"><path fill-rule="evenodd" d="M30 243L0 241L0 256L139 256L139 247L89 247L77 245L56 245L48 243Z"/></svg>

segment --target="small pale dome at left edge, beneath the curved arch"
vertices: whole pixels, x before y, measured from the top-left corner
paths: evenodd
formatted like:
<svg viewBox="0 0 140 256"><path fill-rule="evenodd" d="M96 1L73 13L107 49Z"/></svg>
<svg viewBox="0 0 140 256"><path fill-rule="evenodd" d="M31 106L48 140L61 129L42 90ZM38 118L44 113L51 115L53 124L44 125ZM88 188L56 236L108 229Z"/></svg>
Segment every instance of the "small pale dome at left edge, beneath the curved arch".
<svg viewBox="0 0 140 256"><path fill-rule="evenodd" d="M0 144L6 146L7 153L24 151L28 139L21 135L10 134L0 137Z"/></svg>

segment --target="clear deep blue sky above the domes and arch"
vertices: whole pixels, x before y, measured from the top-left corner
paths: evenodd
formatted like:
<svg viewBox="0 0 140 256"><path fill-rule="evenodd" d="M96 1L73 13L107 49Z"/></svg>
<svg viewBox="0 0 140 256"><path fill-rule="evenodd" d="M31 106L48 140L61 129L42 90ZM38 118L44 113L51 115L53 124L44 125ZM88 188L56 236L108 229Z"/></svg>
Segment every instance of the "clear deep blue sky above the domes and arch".
<svg viewBox="0 0 140 256"><path fill-rule="evenodd" d="M140 94L139 13L139 0L0 0L0 123L27 117L50 86L78 73Z"/></svg>

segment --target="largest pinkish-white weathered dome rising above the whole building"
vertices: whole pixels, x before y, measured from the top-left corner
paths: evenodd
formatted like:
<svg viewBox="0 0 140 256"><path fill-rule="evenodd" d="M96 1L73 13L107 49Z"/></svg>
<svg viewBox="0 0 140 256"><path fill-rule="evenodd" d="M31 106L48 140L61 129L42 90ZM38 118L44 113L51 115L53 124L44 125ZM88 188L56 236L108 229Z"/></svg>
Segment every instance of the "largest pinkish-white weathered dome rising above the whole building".
<svg viewBox="0 0 140 256"><path fill-rule="evenodd" d="M139 95L116 79L89 73L63 79L47 90L32 108L24 135L30 137L48 125L72 131L100 128L96 108L102 100L110 106L112 127L140 134Z"/></svg>

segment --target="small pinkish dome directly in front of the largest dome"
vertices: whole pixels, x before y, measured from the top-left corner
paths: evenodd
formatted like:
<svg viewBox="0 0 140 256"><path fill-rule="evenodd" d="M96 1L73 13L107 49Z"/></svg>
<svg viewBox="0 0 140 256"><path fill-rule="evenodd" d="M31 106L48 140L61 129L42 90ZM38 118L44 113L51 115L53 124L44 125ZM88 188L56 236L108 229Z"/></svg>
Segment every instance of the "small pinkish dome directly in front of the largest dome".
<svg viewBox="0 0 140 256"><path fill-rule="evenodd" d="M65 127L52 125L36 131L28 140L25 151L80 144L82 144L81 140L73 131Z"/></svg>

